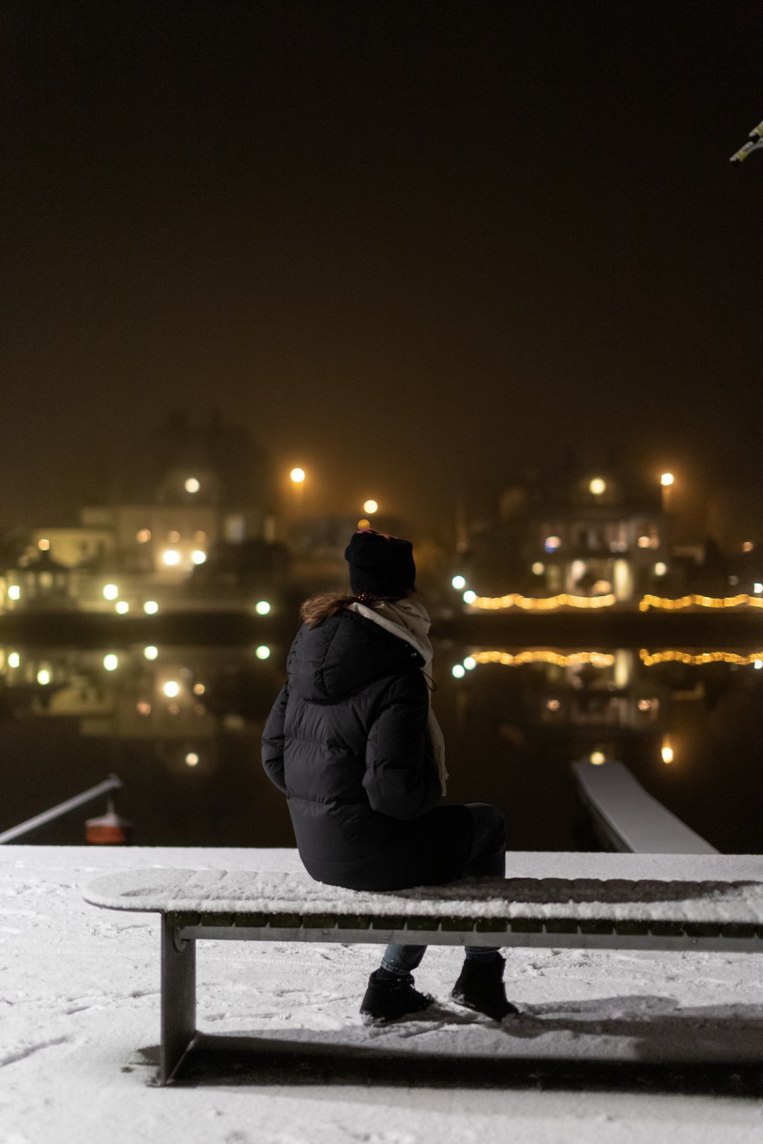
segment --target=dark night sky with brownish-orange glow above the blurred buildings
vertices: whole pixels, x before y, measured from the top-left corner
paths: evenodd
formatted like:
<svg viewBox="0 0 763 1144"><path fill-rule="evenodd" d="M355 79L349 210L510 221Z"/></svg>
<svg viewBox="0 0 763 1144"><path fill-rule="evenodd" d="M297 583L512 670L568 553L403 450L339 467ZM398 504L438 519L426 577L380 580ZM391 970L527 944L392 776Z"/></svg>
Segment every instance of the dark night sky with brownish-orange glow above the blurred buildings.
<svg viewBox="0 0 763 1144"><path fill-rule="evenodd" d="M1 0L0 525L173 408L450 522L763 477L758 0Z"/></svg>

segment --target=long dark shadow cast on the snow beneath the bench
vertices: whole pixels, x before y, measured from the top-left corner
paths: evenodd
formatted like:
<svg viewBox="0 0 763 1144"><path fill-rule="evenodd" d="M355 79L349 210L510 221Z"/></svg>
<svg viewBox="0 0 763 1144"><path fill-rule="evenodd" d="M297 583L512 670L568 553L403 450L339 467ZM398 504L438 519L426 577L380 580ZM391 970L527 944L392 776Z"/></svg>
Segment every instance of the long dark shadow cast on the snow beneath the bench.
<svg viewBox="0 0 763 1144"><path fill-rule="evenodd" d="M151 1055L143 1050L146 1064ZM763 1004L682 1009L668 996L618 996L526 1007L503 1025L435 1004L416 1020L381 1028L200 1033L173 1083L760 1097L762 1062Z"/></svg>

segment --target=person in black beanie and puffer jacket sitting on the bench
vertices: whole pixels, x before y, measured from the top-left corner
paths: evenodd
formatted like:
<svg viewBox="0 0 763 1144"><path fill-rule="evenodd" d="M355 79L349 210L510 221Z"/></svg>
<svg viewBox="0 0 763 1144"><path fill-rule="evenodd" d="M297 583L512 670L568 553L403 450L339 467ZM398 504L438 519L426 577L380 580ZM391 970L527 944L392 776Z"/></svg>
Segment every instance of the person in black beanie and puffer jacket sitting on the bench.
<svg viewBox="0 0 763 1144"><path fill-rule="evenodd" d="M351 890L503 877L500 812L484 803L436 805L447 772L429 700L429 615L415 598L413 546L366 529L344 555L351 595L302 605L288 682L262 739L262 762L288 799L305 869ZM387 947L360 1006L366 1023L432 1003L411 976L424 950ZM516 1012L503 966L498 950L468 946L453 999L494 1020Z"/></svg>

